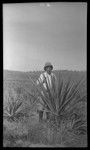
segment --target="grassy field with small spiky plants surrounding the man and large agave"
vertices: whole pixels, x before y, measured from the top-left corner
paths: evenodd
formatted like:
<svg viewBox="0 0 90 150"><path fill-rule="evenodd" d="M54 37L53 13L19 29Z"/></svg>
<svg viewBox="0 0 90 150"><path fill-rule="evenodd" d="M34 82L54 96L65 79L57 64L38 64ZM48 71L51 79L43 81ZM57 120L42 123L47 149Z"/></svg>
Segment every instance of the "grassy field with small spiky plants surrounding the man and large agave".
<svg viewBox="0 0 90 150"><path fill-rule="evenodd" d="M3 146L4 147L87 147L87 73L85 71L54 70L63 86L83 81L78 89L79 98L71 114L63 113L59 127L53 119L39 122L38 92L33 85L42 71L3 71ZM29 78L30 76L30 78ZM61 83L60 83L61 84ZM65 92L65 91L64 91ZM83 98L84 100L84 98Z"/></svg>

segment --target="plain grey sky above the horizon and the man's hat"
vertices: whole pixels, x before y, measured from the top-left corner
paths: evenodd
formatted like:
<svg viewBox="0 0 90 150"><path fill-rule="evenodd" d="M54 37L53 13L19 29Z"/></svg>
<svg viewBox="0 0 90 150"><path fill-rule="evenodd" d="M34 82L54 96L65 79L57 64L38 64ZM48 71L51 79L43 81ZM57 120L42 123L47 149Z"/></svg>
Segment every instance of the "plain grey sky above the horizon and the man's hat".
<svg viewBox="0 0 90 150"><path fill-rule="evenodd" d="M86 70L87 3L3 4L3 68Z"/></svg>

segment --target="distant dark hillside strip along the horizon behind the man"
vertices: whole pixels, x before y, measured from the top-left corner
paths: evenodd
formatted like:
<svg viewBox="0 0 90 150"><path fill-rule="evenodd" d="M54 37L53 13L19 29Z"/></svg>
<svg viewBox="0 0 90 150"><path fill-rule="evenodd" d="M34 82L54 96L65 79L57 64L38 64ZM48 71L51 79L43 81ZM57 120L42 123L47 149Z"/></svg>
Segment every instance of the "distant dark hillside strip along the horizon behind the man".
<svg viewBox="0 0 90 150"><path fill-rule="evenodd" d="M33 72L20 72L20 71L8 71L8 70L4 70L3 71L3 77L4 77L4 81L5 80L9 80L9 79L13 79L13 80L27 80L27 74L35 79L38 78L40 73L42 71L33 71ZM68 77L72 77L72 79L77 79L77 78L86 78L86 71L68 71L68 70L54 70L53 71L56 76L58 77L58 75L60 74L63 78L68 78Z"/></svg>

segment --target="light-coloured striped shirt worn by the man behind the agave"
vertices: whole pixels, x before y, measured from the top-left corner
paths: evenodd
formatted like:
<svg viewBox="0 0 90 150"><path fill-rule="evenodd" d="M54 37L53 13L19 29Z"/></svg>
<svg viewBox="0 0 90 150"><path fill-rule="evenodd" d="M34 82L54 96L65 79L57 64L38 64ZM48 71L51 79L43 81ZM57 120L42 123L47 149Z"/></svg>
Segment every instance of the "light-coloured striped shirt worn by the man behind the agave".
<svg viewBox="0 0 90 150"><path fill-rule="evenodd" d="M42 83L44 88L47 89L45 79L47 81L49 89L52 89L53 84L56 86L56 76L53 73L48 74L47 72L44 72L40 75L39 79L37 80L37 84Z"/></svg>

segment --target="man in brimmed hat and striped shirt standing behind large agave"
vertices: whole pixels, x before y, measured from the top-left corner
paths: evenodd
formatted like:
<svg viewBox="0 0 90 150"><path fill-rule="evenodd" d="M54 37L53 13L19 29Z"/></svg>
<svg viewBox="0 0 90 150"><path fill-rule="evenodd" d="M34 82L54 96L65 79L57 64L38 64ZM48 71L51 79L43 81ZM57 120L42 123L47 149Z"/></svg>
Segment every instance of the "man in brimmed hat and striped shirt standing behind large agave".
<svg viewBox="0 0 90 150"><path fill-rule="evenodd" d="M43 84L43 87L47 91L47 85L50 90L52 90L52 87L54 86L56 88L57 80L56 76L52 73L53 66L50 62L45 63L44 66L44 73L42 73L37 80L37 84ZM47 85L46 85L47 84ZM42 92L42 91L41 91ZM38 107L38 112L39 112L39 121L42 121L43 119L43 112L44 112L44 107L41 103L44 104L42 99L39 97L40 103ZM46 117L49 119L49 112L46 112Z"/></svg>

